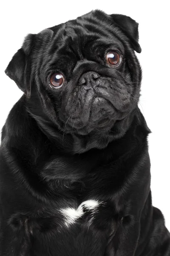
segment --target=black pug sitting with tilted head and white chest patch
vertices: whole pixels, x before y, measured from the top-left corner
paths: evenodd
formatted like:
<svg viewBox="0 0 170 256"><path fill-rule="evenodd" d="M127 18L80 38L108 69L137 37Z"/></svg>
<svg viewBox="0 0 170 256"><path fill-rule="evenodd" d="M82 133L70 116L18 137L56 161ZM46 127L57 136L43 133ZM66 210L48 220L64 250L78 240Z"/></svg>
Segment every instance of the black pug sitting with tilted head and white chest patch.
<svg viewBox="0 0 170 256"><path fill-rule="evenodd" d="M170 256L138 108L138 23L92 11L28 35L0 148L0 256Z"/></svg>

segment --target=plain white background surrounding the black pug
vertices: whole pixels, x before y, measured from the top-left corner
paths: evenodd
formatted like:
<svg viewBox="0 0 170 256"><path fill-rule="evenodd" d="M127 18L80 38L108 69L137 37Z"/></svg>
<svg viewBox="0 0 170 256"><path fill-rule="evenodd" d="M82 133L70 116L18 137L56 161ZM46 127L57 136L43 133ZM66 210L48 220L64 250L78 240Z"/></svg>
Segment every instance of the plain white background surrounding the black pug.
<svg viewBox="0 0 170 256"><path fill-rule="evenodd" d="M3 3L2 3L3 2ZM0 129L22 92L4 70L28 33L57 25L101 9L119 13L139 23L137 54L142 65L140 108L149 135L153 205L161 209L170 230L170 14L167 0L1 1L0 15Z"/></svg>

